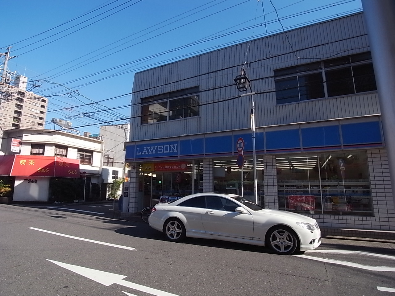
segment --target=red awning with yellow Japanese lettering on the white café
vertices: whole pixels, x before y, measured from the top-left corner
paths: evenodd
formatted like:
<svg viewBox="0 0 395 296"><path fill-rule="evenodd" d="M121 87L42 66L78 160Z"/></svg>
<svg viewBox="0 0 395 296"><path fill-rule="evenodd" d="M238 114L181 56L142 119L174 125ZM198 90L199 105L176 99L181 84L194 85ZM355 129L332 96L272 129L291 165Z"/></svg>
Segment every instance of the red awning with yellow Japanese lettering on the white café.
<svg viewBox="0 0 395 296"><path fill-rule="evenodd" d="M79 160L43 155L2 155L0 175L79 178Z"/></svg>

